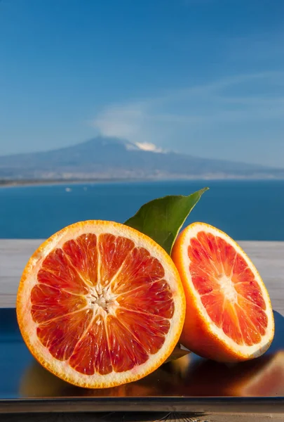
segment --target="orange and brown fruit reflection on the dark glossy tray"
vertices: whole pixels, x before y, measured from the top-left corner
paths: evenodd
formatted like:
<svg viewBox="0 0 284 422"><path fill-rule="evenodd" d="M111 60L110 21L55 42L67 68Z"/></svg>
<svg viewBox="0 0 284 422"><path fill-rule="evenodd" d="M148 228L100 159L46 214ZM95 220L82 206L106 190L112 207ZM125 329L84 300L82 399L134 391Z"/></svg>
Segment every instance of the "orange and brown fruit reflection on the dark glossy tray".
<svg viewBox="0 0 284 422"><path fill-rule="evenodd" d="M189 354L135 383L88 390L61 381L33 362L20 383L22 397L153 397L284 395L284 350L239 364L219 364Z"/></svg>

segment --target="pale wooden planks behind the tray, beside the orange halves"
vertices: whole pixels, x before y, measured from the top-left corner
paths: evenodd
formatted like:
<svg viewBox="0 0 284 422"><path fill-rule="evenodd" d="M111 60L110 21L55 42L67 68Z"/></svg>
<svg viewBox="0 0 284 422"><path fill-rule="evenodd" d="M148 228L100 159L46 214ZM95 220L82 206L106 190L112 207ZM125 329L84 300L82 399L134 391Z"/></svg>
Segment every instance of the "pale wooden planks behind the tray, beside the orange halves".
<svg viewBox="0 0 284 422"><path fill-rule="evenodd" d="M22 270L40 239L0 239L0 307L15 306ZM284 242L241 241L271 295L273 308L284 315Z"/></svg>

